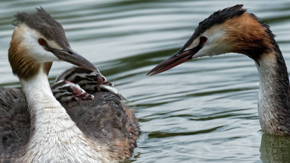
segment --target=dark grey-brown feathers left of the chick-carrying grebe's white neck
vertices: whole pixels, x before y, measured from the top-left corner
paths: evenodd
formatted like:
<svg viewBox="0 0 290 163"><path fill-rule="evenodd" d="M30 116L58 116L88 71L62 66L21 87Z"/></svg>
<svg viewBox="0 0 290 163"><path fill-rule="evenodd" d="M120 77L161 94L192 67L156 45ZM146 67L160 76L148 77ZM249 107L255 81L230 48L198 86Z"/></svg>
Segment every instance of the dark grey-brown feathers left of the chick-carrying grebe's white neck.
<svg viewBox="0 0 290 163"><path fill-rule="evenodd" d="M19 154L30 134L30 114L21 90L0 87L0 124L0 160L10 160L9 151Z"/></svg>

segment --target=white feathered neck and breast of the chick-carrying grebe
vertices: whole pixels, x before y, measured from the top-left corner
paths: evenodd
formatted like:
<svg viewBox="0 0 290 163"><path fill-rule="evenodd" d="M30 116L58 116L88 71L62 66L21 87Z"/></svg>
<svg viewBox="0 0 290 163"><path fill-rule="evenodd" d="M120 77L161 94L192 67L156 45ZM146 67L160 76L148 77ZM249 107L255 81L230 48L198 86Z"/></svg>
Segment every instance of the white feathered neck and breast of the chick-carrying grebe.
<svg viewBox="0 0 290 163"><path fill-rule="evenodd" d="M50 90L43 69L21 80L31 116L28 144L17 162L100 162L101 146L87 139ZM104 156L102 156L104 155ZM108 161L108 160L106 160Z"/></svg>

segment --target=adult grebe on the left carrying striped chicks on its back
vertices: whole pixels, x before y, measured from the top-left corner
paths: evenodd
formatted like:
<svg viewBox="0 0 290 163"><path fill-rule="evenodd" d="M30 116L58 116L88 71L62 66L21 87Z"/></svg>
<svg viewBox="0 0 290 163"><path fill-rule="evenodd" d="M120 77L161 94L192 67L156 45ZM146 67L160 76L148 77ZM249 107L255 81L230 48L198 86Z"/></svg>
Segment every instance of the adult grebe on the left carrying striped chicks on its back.
<svg viewBox="0 0 290 163"><path fill-rule="evenodd" d="M62 102L48 83L53 61L97 71L74 52L61 24L43 8L15 15L8 59L19 89L0 87L0 162L119 162L140 134L133 109L97 92L93 100Z"/></svg>

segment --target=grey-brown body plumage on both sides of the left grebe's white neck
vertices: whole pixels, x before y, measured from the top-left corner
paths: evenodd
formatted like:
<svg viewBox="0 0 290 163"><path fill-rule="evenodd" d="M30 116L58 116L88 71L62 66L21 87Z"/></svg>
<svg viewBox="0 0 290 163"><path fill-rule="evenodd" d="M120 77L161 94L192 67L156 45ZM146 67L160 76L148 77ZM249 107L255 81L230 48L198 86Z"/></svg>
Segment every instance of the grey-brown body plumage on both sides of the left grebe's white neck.
<svg viewBox="0 0 290 163"><path fill-rule="evenodd" d="M61 102L79 129L108 146L117 160L131 157L141 134L134 109L110 92L98 91L89 101ZM30 135L30 113L21 90L0 87L0 161L10 162L23 152Z"/></svg>

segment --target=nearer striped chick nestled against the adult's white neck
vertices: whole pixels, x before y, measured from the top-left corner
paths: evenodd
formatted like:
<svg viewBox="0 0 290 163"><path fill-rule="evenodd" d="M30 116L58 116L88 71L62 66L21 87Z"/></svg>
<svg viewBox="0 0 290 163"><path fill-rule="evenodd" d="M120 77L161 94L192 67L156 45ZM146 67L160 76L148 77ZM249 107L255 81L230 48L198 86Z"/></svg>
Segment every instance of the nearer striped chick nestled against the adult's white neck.
<svg viewBox="0 0 290 163"><path fill-rule="evenodd" d="M50 85L53 96L58 101L69 101L69 100L92 100L94 96L88 94L84 89L75 83L66 80L60 80L52 85Z"/></svg>

